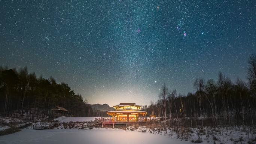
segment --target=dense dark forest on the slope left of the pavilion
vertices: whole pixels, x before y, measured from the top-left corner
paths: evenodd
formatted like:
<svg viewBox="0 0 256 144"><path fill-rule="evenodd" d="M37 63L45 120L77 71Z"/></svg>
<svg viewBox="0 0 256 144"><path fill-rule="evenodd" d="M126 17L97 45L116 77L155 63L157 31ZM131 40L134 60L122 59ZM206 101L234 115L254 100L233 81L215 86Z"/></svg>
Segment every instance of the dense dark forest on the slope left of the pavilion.
<svg viewBox="0 0 256 144"><path fill-rule="evenodd" d="M19 70L0 66L0 113L24 113L31 108L47 115L51 108L64 107L72 116L92 116L90 105L80 94L75 94L67 83L57 83L53 77L45 79L28 73L27 67Z"/></svg>

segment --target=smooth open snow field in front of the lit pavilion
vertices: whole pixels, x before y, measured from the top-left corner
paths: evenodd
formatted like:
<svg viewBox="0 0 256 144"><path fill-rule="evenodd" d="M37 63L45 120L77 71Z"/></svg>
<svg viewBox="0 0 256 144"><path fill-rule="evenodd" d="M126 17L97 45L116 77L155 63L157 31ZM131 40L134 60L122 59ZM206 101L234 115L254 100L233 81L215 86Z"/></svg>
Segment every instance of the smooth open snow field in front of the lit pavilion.
<svg viewBox="0 0 256 144"><path fill-rule="evenodd" d="M166 135L97 128L91 130L22 129L11 135L0 136L0 144L191 144Z"/></svg>

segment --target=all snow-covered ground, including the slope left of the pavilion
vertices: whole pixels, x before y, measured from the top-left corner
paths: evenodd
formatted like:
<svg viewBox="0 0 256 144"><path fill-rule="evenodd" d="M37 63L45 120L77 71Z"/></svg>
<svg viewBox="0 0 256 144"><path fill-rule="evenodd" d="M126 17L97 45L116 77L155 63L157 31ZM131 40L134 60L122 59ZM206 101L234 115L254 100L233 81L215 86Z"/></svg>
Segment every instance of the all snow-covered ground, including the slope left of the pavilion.
<svg viewBox="0 0 256 144"><path fill-rule="evenodd" d="M51 130L33 130L32 126L21 132L0 136L0 144L32 143L192 143L207 144L256 144L256 130L250 126L204 127L204 128L161 128L153 123L147 126L130 126L123 129L95 128L85 130L87 123L95 117L58 117L61 124ZM18 119L1 119L3 123L19 122ZM45 122L46 124L48 122ZM41 124L37 122L37 124ZM0 126L3 127L4 125ZM6 129L7 127L0 129ZM122 142L116 138L124 138ZM72 142L71 142L72 141Z"/></svg>

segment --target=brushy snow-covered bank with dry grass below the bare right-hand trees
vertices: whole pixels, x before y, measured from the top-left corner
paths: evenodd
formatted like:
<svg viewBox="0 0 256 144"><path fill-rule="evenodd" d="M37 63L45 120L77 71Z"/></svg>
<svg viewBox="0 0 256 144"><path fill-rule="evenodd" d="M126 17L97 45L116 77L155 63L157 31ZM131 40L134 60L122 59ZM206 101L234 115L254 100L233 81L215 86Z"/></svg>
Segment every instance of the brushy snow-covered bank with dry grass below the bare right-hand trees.
<svg viewBox="0 0 256 144"><path fill-rule="evenodd" d="M168 135L183 141L208 144L256 144L256 131L252 127L234 126L219 128L146 128L130 126L126 130Z"/></svg>

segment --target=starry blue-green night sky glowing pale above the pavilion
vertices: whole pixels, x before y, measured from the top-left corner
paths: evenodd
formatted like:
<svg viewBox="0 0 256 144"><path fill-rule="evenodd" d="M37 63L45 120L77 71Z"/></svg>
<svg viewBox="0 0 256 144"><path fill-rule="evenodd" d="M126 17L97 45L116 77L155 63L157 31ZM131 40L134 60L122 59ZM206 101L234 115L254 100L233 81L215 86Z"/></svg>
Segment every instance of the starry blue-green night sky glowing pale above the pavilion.
<svg viewBox="0 0 256 144"><path fill-rule="evenodd" d="M255 0L0 1L0 65L67 82L91 104L150 104L165 82L246 80Z"/></svg>

